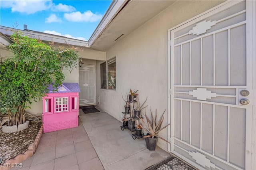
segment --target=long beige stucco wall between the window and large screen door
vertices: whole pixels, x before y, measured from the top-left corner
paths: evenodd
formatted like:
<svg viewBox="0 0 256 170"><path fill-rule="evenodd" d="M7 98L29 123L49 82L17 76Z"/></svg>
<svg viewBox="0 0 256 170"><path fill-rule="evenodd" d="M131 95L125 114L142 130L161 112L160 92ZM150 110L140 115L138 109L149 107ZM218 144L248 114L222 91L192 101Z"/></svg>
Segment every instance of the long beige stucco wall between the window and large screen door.
<svg viewBox="0 0 256 170"><path fill-rule="evenodd" d="M146 113L150 108L158 114L166 109L163 125L168 122L168 29L222 3L222 1L178 1L138 28L106 52L106 59L116 56L116 91L100 89L100 61L96 65L96 96L100 107L120 120L124 110L121 93L130 88L139 90L141 101L146 97ZM143 111L144 113L144 111ZM120 123L121 125L121 123ZM160 136L168 138L168 128ZM168 150L168 144L158 140Z"/></svg>

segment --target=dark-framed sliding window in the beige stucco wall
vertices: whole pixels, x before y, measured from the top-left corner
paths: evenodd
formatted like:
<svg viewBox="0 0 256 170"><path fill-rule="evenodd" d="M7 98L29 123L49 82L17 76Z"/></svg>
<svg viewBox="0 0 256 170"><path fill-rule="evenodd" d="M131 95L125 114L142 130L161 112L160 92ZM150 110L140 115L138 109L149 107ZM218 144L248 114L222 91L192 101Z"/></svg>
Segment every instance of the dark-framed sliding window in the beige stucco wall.
<svg viewBox="0 0 256 170"><path fill-rule="evenodd" d="M116 57L100 65L100 83L102 89L116 89Z"/></svg>

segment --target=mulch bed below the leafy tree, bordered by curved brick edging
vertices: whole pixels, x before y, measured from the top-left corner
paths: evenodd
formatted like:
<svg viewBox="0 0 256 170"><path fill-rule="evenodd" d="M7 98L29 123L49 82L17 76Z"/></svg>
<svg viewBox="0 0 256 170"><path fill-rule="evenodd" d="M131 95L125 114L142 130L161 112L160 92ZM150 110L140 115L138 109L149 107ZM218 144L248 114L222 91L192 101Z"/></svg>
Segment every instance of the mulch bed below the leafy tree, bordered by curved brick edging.
<svg viewBox="0 0 256 170"><path fill-rule="evenodd" d="M0 130L1 164L15 158L19 154L24 154L28 150L28 146L34 142L41 125L41 121L30 121L28 128L18 132L4 133Z"/></svg>

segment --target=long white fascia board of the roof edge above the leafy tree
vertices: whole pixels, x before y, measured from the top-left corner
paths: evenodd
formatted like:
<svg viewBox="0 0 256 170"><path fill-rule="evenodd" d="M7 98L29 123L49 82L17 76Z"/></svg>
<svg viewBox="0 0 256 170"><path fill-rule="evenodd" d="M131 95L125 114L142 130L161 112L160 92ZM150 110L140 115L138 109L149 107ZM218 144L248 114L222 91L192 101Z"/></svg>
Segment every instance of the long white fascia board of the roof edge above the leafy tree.
<svg viewBox="0 0 256 170"><path fill-rule="evenodd" d="M15 29L1 26L1 33L4 35L8 35L8 36L12 35L13 34L12 30L15 30ZM69 44L69 45L75 45L75 46L81 46L81 47L89 47L88 42L83 40L77 40L77 39L67 38L63 36L35 32L32 30L18 30L18 31L22 32L22 34L30 38L40 39L46 42L55 42L55 43Z"/></svg>

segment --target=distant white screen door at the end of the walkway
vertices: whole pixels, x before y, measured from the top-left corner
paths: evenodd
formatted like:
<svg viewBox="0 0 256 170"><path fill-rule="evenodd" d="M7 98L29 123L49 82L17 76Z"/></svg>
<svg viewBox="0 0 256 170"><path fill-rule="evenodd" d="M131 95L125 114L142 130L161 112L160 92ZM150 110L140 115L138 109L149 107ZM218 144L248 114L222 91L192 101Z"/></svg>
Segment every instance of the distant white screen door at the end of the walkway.
<svg viewBox="0 0 256 170"><path fill-rule="evenodd" d="M79 105L95 104L95 66L82 65L79 67Z"/></svg>

